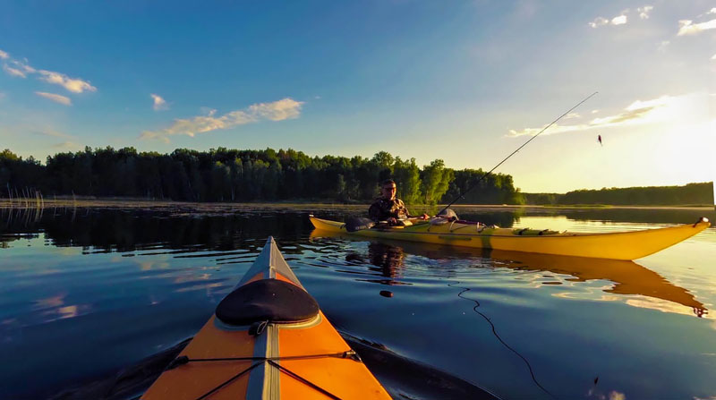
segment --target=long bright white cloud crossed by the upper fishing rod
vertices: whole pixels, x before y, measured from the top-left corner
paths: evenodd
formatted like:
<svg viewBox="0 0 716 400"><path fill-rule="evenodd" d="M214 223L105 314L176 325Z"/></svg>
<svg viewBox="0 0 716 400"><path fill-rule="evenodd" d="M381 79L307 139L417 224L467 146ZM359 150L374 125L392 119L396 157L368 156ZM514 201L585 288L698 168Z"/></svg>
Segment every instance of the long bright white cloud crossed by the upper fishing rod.
<svg viewBox="0 0 716 400"><path fill-rule="evenodd" d="M618 114L594 118L589 123L576 123L571 125L559 125L556 123L543 134L580 132L597 128L674 120L678 115L683 115L685 110L689 107L693 107L693 99L688 95L676 97L661 96L661 98L653 98L645 101L636 100L629 106L626 106L626 108ZM507 136L534 136L543 128L544 126L539 128L524 128L521 131L510 130Z"/></svg>

